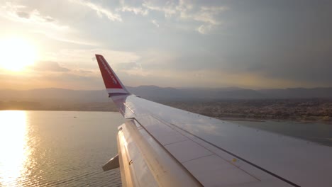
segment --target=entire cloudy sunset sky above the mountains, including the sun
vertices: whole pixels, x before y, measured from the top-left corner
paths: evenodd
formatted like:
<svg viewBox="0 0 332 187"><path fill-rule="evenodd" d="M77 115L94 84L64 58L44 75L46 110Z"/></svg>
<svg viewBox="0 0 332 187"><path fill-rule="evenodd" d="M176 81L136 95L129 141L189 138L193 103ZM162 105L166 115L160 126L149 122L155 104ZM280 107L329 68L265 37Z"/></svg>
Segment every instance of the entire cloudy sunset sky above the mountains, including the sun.
<svg viewBox="0 0 332 187"><path fill-rule="evenodd" d="M0 89L104 89L94 54L127 86L332 86L328 0L0 0L0 26Z"/></svg>

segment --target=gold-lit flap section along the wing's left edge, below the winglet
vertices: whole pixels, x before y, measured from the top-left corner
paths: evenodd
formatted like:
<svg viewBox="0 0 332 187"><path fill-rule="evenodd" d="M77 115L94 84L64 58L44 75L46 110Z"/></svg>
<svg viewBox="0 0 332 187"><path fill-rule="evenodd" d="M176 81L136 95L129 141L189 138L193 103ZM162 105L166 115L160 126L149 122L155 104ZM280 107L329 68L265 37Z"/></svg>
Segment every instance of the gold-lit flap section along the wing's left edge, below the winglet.
<svg viewBox="0 0 332 187"><path fill-rule="evenodd" d="M119 129L123 186L201 186L137 121L129 120Z"/></svg>

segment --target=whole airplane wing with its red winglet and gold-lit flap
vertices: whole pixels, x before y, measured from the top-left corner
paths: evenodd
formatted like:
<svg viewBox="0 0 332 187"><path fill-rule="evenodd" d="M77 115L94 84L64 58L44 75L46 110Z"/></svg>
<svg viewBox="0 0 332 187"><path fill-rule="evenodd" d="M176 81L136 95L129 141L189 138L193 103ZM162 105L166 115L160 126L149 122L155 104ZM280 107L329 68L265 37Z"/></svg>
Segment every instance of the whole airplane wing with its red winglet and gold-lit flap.
<svg viewBox="0 0 332 187"><path fill-rule="evenodd" d="M118 127L123 186L332 186L332 148L145 100L96 60Z"/></svg>

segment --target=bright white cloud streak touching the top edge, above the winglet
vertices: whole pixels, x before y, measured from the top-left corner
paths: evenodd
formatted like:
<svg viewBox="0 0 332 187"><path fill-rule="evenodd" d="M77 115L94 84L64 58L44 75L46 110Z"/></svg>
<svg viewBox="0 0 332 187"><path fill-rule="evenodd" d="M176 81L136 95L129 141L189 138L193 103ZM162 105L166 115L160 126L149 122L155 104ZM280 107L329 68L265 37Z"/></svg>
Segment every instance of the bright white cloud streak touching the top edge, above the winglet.
<svg viewBox="0 0 332 187"><path fill-rule="evenodd" d="M91 1L83 1L83 0L71 0L72 2L76 4L80 4L82 6L86 6L93 11L96 11L97 15L102 18L103 16L106 16L109 18L110 21L122 21L121 15L118 13L114 13L113 11L103 8L99 6L98 4L94 4Z"/></svg>

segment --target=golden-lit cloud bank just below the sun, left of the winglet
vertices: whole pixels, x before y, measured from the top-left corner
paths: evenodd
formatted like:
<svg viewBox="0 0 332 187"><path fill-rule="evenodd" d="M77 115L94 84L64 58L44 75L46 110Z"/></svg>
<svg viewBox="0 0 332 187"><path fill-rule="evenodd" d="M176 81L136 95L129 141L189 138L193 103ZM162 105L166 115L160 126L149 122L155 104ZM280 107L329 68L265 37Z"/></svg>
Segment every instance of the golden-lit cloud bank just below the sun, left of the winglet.
<svg viewBox="0 0 332 187"><path fill-rule="evenodd" d="M104 89L99 71L67 69L57 62L38 62L17 74L0 71L0 84L2 89Z"/></svg>

